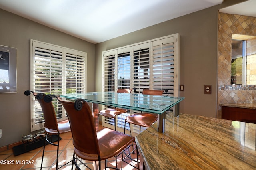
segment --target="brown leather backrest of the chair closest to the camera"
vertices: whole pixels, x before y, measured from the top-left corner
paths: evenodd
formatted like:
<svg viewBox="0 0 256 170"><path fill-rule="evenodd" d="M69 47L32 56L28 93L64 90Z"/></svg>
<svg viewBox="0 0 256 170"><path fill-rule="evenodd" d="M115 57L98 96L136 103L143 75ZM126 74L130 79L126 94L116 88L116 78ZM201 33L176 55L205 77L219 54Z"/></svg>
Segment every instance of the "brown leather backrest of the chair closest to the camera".
<svg viewBox="0 0 256 170"><path fill-rule="evenodd" d="M99 156L97 133L88 103L83 99L77 99L76 102L63 101L60 97L58 101L68 115L74 147L87 154ZM77 104L80 110L75 109Z"/></svg>

